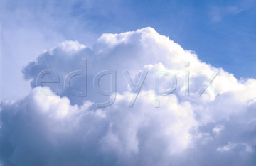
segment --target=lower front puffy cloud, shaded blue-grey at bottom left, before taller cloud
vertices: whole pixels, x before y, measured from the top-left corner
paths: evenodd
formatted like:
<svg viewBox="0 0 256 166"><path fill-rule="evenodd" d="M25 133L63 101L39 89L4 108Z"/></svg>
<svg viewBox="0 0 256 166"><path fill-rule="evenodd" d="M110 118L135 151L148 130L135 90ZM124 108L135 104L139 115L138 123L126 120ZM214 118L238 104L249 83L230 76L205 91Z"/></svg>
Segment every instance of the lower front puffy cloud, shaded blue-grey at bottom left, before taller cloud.
<svg viewBox="0 0 256 166"><path fill-rule="evenodd" d="M93 110L90 101L71 106L37 87L15 104L3 102L1 159L5 165L133 165L161 157L148 164L167 165L168 157L191 146L197 126L191 105L172 95L156 111L148 100L154 92L142 96L137 109L118 95L117 104Z"/></svg>

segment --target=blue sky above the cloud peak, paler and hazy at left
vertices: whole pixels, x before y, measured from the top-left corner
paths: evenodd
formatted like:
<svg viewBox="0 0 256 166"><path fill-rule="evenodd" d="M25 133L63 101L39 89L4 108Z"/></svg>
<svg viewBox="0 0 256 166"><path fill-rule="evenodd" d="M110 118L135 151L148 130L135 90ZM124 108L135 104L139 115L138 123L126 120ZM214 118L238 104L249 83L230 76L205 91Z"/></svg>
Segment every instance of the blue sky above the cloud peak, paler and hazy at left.
<svg viewBox="0 0 256 166"><path fill-rule="evenodd" d="M92 46L102 33L148 26L235 77L256 77L255 1L3 0L0 7L1 79L11 79L1 82L1 99L26 93L14 87L28 91L21 68L43 50L64 40Z"/></svg>

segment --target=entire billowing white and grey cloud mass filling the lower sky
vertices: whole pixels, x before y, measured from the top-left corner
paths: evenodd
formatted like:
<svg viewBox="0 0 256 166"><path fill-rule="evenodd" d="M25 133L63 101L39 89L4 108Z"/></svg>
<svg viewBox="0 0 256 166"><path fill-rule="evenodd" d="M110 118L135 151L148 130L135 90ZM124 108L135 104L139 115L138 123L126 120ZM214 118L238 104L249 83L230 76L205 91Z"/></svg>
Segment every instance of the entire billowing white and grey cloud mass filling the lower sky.
<svg viewBox="0 0 256 166"><path fill-rule="evenodd" d="M82 69L82 58L87 59L86 97L70 95L64 87L66 75ZM38 74L46 69L58 72L60 82L45 84L48 87L43 90L58 92L58 96L46 96L36 85ZM102 70L117 71L117 96L111 106L97 108L96 103L109 99L92 86L93 77ZM148 72L132 108L128 104L133 94L123 70L129 72L133 84L142 71ZM174 93L160 96L159 108L154 107L156 70L169 71L177 79ZM190 72L190 96L185 96L185 71ZM211 83L220 95L208 87L199 96L205 77L216 72ZM104 34L92 48L66 41L43 52L23 68L23 74L31 81L31 93L19 101L1 102L3 165L256 162L256 80L237 80L233 74L201 62L194 52L183 50L153 28ZM110 88L109 79L102 77L102 89ZM169 77L161 77L160 91L170 84ZM70 85L79 91L81 78L73 77Z"/></svg>

